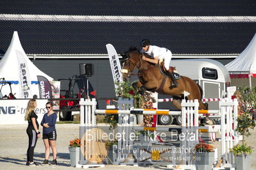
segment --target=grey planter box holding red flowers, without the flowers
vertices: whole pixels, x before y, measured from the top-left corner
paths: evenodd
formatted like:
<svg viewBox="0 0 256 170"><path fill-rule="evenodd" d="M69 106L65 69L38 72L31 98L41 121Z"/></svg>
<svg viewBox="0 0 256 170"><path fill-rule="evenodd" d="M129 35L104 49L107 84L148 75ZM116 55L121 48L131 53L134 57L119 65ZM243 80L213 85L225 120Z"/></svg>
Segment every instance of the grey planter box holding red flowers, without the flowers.
<svg viewBox="0 0 256 170"><path fill-rule="evenodd" d="M195 164L197 170L212 169L214 152L196 152Z"/></svg>

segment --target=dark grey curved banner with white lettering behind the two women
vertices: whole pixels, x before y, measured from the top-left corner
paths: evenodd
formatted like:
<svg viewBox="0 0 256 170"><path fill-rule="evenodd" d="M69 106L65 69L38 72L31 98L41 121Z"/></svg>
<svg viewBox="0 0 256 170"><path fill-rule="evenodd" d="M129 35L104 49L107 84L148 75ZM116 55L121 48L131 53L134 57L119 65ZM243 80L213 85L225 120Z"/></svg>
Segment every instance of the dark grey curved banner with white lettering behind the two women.
<svg viewBox="0 0 256 170"><path fill-rule="evenodd" d="M51 84L46 77L37 75L37 80L39 82L39 98L52 98Z"/></svg>

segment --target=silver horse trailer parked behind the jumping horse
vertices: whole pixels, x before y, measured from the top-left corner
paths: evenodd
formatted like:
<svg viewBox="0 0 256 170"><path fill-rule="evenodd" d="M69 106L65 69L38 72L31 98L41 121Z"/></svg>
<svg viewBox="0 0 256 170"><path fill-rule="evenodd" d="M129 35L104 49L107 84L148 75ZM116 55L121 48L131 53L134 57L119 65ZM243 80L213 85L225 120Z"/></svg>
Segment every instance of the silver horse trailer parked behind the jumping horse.
<svg viewBox="0 0 256 170"><path fill-rule="evenodd" d="M172 59L171 66L175 66L180 75L196 81L203 89L203 98L223 98L226 87L230 85L230 76L225 66L213 59ZM158 94L158 98L169 98ZM219 102L205 102L210 110L219 109ZM170 102L158 103L158 109L175 109ZM167 115L168 116L168 115ZM176 122L181 123L180 116ZM169 125L173 118L158 116L158 123Z"/></svg>

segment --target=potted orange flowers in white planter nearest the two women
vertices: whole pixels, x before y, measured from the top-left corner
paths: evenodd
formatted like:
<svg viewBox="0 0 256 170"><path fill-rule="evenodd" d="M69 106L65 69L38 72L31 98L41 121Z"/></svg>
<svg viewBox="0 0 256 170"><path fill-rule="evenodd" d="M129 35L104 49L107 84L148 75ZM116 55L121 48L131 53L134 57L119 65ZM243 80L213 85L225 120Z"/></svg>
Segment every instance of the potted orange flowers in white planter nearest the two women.
<svg viewBox="0 0 256 170"><path fill-rule="evenodd" d="M78 138L75 138L74 140L69 141L69 157L70 157L70 164L72 167L75 167L76 164L79 163L80 146L81 146L81 140Z"/></svg>

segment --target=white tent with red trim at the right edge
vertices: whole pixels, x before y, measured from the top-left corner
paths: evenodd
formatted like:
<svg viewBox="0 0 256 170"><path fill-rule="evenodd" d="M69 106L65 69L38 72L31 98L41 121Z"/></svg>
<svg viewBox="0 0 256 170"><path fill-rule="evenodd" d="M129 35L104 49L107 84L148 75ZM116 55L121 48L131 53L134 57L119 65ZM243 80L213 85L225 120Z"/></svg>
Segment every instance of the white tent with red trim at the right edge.
<svg viewBox="0 0 256 170"><path fill-rule="evenodd" d="M231 79L248 78L252 87L252 77L256 77L256 34L246 49L225 66Z"/></svg>

